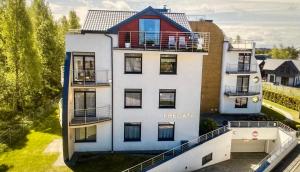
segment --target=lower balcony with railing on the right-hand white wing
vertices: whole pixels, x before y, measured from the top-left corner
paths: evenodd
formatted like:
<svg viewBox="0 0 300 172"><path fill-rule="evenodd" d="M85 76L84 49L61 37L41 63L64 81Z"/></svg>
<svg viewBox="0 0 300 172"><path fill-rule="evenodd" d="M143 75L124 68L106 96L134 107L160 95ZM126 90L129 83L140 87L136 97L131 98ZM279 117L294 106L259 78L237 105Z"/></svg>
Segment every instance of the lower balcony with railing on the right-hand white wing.
<svg viewBox="0 0 300 172"><path fill-rule="evenodd" d="M225 95L228 97L251 97L259 95L261 87L237 87L237 86L225 86Z"/></svg>

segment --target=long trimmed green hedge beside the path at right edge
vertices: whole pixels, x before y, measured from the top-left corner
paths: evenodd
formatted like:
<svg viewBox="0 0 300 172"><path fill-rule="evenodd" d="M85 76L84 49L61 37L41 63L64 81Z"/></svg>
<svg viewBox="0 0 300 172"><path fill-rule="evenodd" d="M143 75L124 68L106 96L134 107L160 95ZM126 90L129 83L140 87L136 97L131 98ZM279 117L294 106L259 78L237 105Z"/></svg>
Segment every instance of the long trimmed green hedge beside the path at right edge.
<svg viewBox="0 0 300 172"><path fill-rule="evenodd" d="M276 93L269 90L263 91L264 99L280 104L293 110L300 110L300 100L295 97L290 97L281 93Z"/></svg>

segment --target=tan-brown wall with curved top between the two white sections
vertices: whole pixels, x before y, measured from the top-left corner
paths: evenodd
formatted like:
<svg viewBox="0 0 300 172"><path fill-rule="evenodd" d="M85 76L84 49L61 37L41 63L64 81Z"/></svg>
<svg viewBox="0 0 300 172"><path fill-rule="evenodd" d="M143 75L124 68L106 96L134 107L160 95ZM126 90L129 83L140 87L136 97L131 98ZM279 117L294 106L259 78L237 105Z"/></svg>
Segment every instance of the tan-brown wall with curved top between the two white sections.
<svg viewBox="0 0 300 172"><path fill-rule="evenodd" d="M189 22L193 32L210 32L209 53L203 58L201 113L219 111L224 34L214 23ZM213 72L212 72L213 71Z"/></svg>

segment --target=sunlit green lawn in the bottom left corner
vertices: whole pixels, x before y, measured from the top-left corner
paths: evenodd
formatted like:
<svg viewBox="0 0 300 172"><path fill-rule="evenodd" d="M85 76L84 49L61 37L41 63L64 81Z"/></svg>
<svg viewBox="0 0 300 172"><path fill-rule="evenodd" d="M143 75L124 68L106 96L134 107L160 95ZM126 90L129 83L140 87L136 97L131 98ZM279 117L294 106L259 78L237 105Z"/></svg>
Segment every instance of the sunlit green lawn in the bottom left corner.
<svg viewBox="0 0 300 172"><path fill-rule="evenodd" d="M68 171L67 168L54 168L52 164L58 158L58 153L44 154L43 151L54 139L55 134L31 131L28 141L22 149L15 149L0 154L0 171Z"/></svg>

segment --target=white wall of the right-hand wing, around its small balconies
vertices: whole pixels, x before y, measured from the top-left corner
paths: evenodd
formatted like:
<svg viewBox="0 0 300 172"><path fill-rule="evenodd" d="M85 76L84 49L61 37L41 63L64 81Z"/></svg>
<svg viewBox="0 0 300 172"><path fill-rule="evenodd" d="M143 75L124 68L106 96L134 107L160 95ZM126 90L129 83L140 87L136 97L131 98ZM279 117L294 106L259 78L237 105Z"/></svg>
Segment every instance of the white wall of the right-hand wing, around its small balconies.
<svg viewBox="0 0 300 172"><path fill-rule="evenodd" d="M261 85L261 75L258 64L255 59L255 48L253 51L228 51L228 42L224 42L224 49L223 49L223 63L222 63L222 80L221 80L221 90L220 90L220 113L225 114L249 114L249 113L260 113L261 104L262 104L262 85ZM235 108L235 98L236 97L227 97L225 93L226 86L232 86L233 88L237 85L237 76L241 74L227 74L226 68L229 64L238 64L238 57L239 53L252 53L251 57L251 67L256 65L257 73L254 74L247 74L250 75L249 77L249 88L251 91L251 87L260 88L260 95L259 101L254 103L252 101L252 97L248 98L248 106L247 108ZM253 81L254 77L259 78L259 82L255 83Z"/></svg>

